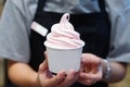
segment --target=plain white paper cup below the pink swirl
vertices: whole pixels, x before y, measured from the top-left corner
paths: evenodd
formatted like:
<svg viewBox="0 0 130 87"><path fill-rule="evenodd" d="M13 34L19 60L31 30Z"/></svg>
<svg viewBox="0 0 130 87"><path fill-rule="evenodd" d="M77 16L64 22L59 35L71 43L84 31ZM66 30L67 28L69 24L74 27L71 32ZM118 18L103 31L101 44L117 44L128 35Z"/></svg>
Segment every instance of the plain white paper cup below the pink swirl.
<svg viewBox="0 0 130 87"><path fill-rule="evenodd" d="M53 49L47 47L47 53L49 70L52 73L57 73L61 70L65 70L66 73L69 70L78 72L80 69L82 47L77 49Z"/></svg>

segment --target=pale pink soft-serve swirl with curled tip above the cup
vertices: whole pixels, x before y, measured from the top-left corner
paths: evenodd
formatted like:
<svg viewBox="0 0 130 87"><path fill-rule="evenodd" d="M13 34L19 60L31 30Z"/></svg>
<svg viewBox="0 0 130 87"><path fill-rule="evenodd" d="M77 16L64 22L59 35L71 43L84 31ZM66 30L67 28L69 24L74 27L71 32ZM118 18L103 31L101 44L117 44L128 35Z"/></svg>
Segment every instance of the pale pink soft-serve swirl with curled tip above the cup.
<svg viewBox="0 0 130 87"><path fill-rule="evenodd" d="M76 49L84 46L80 39L80 34L74 29L74 26L68 22L69 14L65 13L60 23L51 27L51 33L47 36L44 45L55 49Z"/></svg>

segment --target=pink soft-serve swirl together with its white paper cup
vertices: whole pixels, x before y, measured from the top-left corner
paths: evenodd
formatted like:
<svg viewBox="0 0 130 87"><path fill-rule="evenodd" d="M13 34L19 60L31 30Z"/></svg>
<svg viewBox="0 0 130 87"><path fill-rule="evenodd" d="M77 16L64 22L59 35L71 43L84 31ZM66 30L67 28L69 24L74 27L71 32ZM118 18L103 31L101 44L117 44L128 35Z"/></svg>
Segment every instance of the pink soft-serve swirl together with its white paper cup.
<svg viewBox="0 0 130 87"><path fill-rule="evenodd" d="M65 70L79 71L82 47L84 42L80 39L79 33L68 22L69 14L65 13L60 23L51 27L51 33L47 35L44 46L47 47L49 70L57 73Z"/></svg>

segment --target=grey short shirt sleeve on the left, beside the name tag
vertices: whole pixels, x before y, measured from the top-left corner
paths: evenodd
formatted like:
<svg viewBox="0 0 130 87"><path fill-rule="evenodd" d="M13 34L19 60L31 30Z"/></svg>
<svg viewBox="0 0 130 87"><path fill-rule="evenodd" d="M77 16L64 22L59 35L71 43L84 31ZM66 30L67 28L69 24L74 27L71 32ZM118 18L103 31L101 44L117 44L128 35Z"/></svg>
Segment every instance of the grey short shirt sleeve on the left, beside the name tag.
<svg viewBox="0 0 130 87"><path fill-rule="evenodd" d="M0 57L28 62L30 51L26 13L22 12L12 1L6 0L0 20ZM18 5L23 8L22 3Z"/></svg>

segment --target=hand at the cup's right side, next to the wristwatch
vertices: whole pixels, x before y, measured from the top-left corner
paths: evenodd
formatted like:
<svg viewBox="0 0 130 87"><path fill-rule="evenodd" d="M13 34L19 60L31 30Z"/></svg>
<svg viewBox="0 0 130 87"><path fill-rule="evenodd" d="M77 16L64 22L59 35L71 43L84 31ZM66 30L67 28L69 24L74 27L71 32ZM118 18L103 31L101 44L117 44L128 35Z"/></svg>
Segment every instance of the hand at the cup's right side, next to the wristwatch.
<svg viewBox="0 0 130 87"><path fill-rule="evenodd" d="M78 82L84 85L93 85L102 79L102 59L91 54L83 53L81 60L81 72Z"/></svg>

